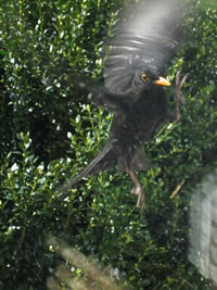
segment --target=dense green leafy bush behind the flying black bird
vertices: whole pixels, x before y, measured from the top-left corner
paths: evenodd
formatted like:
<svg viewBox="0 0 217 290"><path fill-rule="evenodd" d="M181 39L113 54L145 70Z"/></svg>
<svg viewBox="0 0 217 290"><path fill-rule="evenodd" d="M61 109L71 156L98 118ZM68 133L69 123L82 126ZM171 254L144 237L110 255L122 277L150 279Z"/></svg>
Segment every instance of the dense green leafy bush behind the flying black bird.
<svg viewBox="0 0 217 290"><path fill-rule="evenodd" d="M115 168L58 199L107 138L112 115L76 93L75 83L103 81L107 36L131 3L1 1L1 289L46 289L64 263L50 236L117 268L128 288L207 289L188 262L188 212L192 189L217 162L216 10L188 2L184 42L167 72L170 79L190 73L186 104L181 122L144 147L153 161L139 174L146 211L135 207L131 182ZM174 108L173 88L168 94Z"/></svg>

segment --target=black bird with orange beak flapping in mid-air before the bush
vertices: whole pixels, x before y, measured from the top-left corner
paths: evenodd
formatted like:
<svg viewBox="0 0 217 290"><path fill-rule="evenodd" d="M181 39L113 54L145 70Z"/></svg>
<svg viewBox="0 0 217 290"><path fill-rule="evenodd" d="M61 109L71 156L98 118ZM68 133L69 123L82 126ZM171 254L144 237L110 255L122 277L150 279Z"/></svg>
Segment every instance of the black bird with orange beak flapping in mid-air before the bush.
<svg viewBox="0 0 217 290"><path fill-rule="evenodd" d="M129 21L117 26L110 41L105 89L79 81L89 99L114 112L114 117L105 146L62 192L88 175L117 165L118 173L128 173L135 184L131 192L138 194L137 206L144 206L144 191L135 171L148 169L150 162L142 147L162 124L171 121L164 90L170 84L162 74L178 47L176 12L174 0L140 5ZM177 75L177 102L184 80Z"/></svg>

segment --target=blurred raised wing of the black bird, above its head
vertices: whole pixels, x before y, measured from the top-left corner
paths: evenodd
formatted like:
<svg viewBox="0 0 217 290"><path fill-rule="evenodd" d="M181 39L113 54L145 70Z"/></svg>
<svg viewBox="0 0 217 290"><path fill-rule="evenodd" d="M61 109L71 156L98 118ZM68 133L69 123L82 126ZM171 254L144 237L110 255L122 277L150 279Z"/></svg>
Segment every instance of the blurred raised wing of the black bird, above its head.
<svg viewBox="0 0 217 290"><path fill-rule="evenodd" d="M149 65L164 72L178 47L177 11L176 0L140 4L131 20L116 28L104 68L108 92L124 94L129 91L138 68Z"/></svg>

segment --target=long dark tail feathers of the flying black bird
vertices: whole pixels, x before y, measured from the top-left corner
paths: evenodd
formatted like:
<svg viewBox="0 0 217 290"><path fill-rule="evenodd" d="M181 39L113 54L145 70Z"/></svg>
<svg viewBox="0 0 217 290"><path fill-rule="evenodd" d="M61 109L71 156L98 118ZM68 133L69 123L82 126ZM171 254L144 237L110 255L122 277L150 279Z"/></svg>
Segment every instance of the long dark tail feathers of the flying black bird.
<svg viewBox="0 0 217 290"><path fill-rule="evenodd" d="M108 169L111 166L115 164L115 155L112 151L112 143L108 141L102 150L99 152L99 154L90 162L90 164L76 177L74 177L71 181L63 185L60 189L59 197L65 197L66 191L69 190L73 186L78 184L84 177L87 177L89 175L94 175L101 171Z"/></svg>

